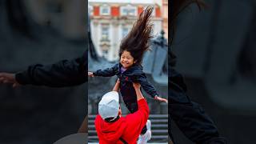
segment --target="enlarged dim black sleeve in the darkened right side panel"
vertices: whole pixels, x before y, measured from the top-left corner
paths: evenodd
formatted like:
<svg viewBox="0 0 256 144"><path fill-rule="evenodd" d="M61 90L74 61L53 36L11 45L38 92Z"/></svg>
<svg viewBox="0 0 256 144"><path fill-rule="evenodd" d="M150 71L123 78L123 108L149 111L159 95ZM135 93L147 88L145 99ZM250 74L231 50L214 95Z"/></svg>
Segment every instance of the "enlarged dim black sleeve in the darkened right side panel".
<svg viewBox="0 0 256 144"><path fill-rule="evenodd" d="M182 74L178 74L174 69L171 73L168 84L169 118L172 118L182 133L193 142L208 143L210 139L218 138L220 143L226 143L225 138L219 137L217 127L202 106L192 102L186 94L186 84ZM170 127L169 122L169 134Z"/></svg>

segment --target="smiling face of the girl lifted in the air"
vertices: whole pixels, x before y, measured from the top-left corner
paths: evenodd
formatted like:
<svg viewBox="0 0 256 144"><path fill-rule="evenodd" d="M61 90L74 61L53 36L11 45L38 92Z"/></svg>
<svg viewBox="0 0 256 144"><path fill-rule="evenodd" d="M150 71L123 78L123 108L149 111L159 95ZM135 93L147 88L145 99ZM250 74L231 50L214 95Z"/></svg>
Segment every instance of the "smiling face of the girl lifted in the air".
<svg viewBox="0 0 256 144"><path fill-rule="evenodd" d="M130 66L133 66L133 64L135 62L136 61L134 61L134 57L132 57L130 55L129 51L124 50L122 52L122 55L121 55L121 58L120 58L120 63L121 63L123 68L125 68L125 69L130 68Z"/></svg>

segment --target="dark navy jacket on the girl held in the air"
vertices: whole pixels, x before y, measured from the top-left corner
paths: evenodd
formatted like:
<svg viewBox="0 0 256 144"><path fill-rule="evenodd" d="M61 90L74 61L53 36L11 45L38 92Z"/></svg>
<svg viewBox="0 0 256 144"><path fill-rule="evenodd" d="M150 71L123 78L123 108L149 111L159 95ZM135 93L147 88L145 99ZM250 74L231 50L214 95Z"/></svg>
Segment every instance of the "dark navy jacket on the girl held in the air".
<svg viewBox="0 0 256 144"><path fill-rule="evenodd" d="M118 63L111 68L107 68L106 70L95 71L94 76L112 77L117 75L120 79L120 92L124 102L137 102L137 97L132 82L140 83L143 90L145 90L147 94L150 94L152 98L158 95L154 89L154 86L147 81L146 74L142 71L142 66L134 65L123 73L121 73L121 67L122 65Z"/></svg>

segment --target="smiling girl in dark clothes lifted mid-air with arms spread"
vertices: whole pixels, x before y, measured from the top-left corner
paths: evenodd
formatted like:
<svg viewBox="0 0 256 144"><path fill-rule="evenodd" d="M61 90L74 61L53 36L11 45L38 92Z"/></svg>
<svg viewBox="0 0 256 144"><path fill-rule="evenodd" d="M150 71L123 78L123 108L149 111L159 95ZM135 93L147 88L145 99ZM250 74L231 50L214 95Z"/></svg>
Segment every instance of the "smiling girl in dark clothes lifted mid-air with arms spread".
<svg viewBox="0 0 256 144"><path fill-rule="evenodd" d="M119 50L120 61L118 64L106 70L97 70L95 72L88 72L88 76L102 76L112 77L117 75L120 80L120 92L123 101L126 104L130 113L138 110L137 97L133 87L133 82L141 84L143 90L150 94L152 98L160 102L168 102L165 98L158 96L157 91L154 89L146 79L146 74L142 71L142 58L146 50L149 50L150 38L152 37L152 24L150 24L150 15L152 14L153 7L147 7L139 15L137 22L122 39ZM146 126L144 126L141 137L146 136ZM147 137L149 134L147 134ZM151 136L151 134L150 134Z"/></svg>

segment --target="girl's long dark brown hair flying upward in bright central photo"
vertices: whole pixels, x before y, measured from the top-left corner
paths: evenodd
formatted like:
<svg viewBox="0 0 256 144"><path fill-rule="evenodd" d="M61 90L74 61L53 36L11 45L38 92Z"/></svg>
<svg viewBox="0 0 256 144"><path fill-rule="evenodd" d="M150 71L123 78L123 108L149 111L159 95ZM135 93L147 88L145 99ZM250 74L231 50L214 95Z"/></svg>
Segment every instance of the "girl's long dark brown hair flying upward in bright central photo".
<svg viewBox="0 0 256 144"><path fill-rule="evenodd" d="M122 39L119 50L119 57L121 57L124 50L129 51L134 57L136 63L141 64L143 54L149 50L149 40L152 38L152 24L150 24L150 16L153 12L153 7L148 6L146 10L142 11L138 20L130 30L130 33Z"/></svg>

